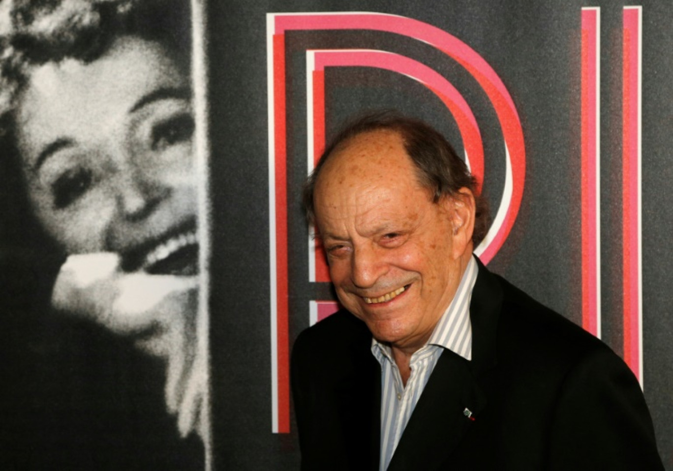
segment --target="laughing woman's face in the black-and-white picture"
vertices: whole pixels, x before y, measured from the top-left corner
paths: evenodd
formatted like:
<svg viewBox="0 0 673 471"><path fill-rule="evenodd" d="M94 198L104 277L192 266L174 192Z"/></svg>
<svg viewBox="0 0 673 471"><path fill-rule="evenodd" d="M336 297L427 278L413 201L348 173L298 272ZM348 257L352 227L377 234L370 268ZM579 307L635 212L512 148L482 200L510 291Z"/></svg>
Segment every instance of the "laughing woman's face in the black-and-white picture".
<svg viewBox="0 0 673 471"><path fill-rule="evenodd" d="M30 201L68 254L127 270L197 270L190 80L162 46L118 38L100 58L46 63L17 109Z"/></svg>

